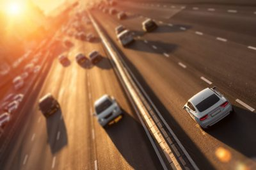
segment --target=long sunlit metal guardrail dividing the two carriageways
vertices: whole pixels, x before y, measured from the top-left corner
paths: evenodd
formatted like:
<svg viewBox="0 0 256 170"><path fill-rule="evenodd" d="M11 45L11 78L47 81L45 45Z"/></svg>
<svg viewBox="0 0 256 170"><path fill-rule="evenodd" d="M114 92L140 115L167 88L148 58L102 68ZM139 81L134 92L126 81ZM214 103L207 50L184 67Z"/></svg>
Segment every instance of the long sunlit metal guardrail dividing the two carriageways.
<svg viewBox="0 0 256 170"><path fill-rule="evenodd" d="M145 93L144 89L137 81L124 59L116 50L115 45L111 43L110 38L104 33L104 29L97 24L90 12L88 12L93 26L99 34L104 47L111 57L113 68L115 69L120 81L124 82L123 86L127 89L127 95L130 95L136 109L140 112L139 118L142 118L147 129L154 138L154 143L157 145L157 157L161 161L164 169L198 169L195 162L189 156L188 152L177 139L172 129L157 110L156 106ZM147 132L147 131L146 131ZM152 144L153 145L153 144ZM159 151L161 155L159 155ZM164 158L164 159L163 159Z"/></svg>

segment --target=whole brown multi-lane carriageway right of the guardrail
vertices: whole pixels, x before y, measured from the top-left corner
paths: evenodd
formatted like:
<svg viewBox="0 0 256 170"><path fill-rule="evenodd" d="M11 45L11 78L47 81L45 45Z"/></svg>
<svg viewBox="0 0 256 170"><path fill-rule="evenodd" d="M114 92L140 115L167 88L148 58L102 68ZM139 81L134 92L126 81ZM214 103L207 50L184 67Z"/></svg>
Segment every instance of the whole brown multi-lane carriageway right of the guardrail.
<svg viewBox="0 0 256 170"><path fill-rule="evenodd" d="M177 10L164 4L124 2L115 8L127 12L127 19L118 20L100 10L92 10L92 14L198 167L255 168L253 11L234 17L228 12L216 10L216 15L210 15L207 10ZM147 18L159 24L156 31L143 32L141 22ZM116 42L114 30L120 24L130 29L136 39L127 48ZM212 86L232 102L234 114L204 131L182 107L198 91ZM227 159L220 156L220 150L228 155Z"/></svg>

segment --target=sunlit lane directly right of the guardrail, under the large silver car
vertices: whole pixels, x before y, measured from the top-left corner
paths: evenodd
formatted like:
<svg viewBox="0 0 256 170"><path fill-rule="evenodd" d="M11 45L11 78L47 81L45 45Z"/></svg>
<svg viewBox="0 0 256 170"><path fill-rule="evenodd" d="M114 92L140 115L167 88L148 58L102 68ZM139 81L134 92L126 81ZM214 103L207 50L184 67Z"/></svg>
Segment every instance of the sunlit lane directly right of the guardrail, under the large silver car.
<svg viewBox="0 0 256 170"><path fill-rule="evenodd" d="M97 16L97 14L95 15ZM102 16L99 15L99 17L97 18L102 18ZM111 30L113 30L113 27L115 26L111 26L112 22L109 19L105 23L103 22L102 25L106 27L107 22L109 26L109 28L107 29L108 35L113 38L115 37L115 33L113 33L113 31ZM116 23L114 23L113 25L116 25ZM166 118L166 121L170 123L170 126L176 132L175 134L178 135L179 139L182 140L182 144L184 144L184 146L188 146L186 148L189 148L188 151L190 155L195 158L196 163L199 164L201 167L209 168L209 164L207 164L207 160L202 162L202 158L200 158L200 156L206 156L207 159L211 161L214 167L228 167L228 165L220 164L220 162L216 160L214 153L215 149L220 146L229 148L227 144L225 144L226 141L229 141L228 137L225 138L226 141L219 141L218 138L220 138L220 136L218 138L212 138L211 135L205 133L200 128L197 128L196 124L191 121L191 118L189 118L188 114L186 114L186 112L182 110L182 106L186 103L188 98L195 95L195 93L206 87L205 82L201 81L192 72L189 72L188 75L188 72L186 72L184 68L177 65L177 63L170 65L170 62L172 63L172 61L164 60L166 58L154 54L154 50L152 49L152 54L150 54L148 52L150 49L147 49L147 45L140 42L138 42L138 44L136 43L134 44L134 46L140 47L143 50L134 52L131 49L123 49L121 47L128 58L127 60L129 60L127 62L131 63L130 66L132 70L135 70L137 72L137 76L141 75L139 77L139 80L140 82L142 82L143 87L147 89L148 94L157 104L157 106L160 105L157 108L159 108L159 110L164 114L164 118ZM164 61L161 62L161 60ZM174 69L175 67L177 68L177 70ZM180 74L180 70L186 73ZM166 77L168 77L168 79L166 79ZM150 89L152 91L150 91ZM166 94L172 94L172 97L166 97ZM232 101L232 103L234 103L234 98L230 96L227 97ZM247 112L244 109L240 110L241 112L239 111L239 115L244 115L244 113ZM236 121L239 122L232 124L232 127L234 128L237 128L237 123L245 123L241 120ZM217 130L221 132L221 129ZM243 129L243 132L247 130L252 129L248 129L246 127L246 129ZM230 133L232 134L232 132L233 131L231 131ZM186 135L188 136L186 137ZM243 137L248 140L255 141L254 137L252 137L251 135L244 135L244 133L241 133L241 135L243 135ZM193 144L196 144L196 146L193 146ZM232 156L234 155L234 161L239 160L240 157L248 160L246 156L249 155L249 153L254 153L252 150L248 149L250 147L246 146L247 145L245 144L244 148L246 148L246 151L239 150L240 146L238 145L234 146L234 148L229 148ZM197 147L199 148L199 151L196 150ZM204 155L202 155L202 153L204 153ZM230 164L229 166L232 166L232 164Z"/></svg>

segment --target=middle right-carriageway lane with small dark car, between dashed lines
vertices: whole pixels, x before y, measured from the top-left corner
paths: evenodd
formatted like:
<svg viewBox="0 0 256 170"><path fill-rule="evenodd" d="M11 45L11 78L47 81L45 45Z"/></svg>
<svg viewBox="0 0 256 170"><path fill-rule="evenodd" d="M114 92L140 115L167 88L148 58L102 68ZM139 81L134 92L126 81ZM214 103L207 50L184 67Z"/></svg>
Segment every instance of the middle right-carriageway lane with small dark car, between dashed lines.
<svg viewBox="0 0 256 170"><path fill-rule="evenodd" d="M177 26L168 27L161 24L156 31L144 33L141 28L143 19L140 17L116 21L115 18L108 16L104 15L106 19L116 22L111 29L118 26L118 22L123 24L131 29L135 36L140 36L141 40L147 40L148 45L157 47L156 52L170 54L170 58L175 58L176 61L191 66L196 72L207 75L212 81L218 81L218 84L221 84L227 91L237 94L237 98L242 98L249 105L256 105L254 81L256 61L253 50L236 43L221 42L210 36L199 36L188 30L183 31ZM132 48L141 50L136 46ZM231 63L232 67L227 69Z"/></svg>

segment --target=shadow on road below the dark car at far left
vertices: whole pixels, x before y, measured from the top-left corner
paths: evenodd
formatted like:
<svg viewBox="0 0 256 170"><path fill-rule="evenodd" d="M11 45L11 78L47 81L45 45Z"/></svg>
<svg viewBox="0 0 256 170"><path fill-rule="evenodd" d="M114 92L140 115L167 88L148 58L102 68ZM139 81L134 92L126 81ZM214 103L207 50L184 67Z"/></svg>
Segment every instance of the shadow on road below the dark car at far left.
<svg viewBox="0 0 256 170"><path fill-rule="evenodd" d="M57 153L67 146L67 128L63 119L61 109L49 118L45 118L47 127L47 143L50 145L51 153ZM60 119L61 118L61 119Z"/></svg>

